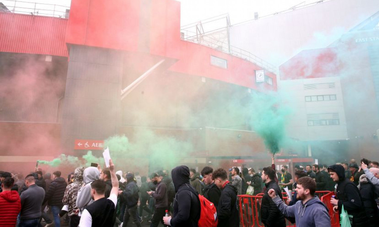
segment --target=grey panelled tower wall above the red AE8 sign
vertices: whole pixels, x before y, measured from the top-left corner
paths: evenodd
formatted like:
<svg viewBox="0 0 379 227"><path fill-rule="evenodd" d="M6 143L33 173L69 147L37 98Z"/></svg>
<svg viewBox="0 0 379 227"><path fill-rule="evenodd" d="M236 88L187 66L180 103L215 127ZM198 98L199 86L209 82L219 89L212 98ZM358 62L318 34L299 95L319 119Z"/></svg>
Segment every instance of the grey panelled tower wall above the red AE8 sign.
<svg viewBox="0 0 379 227"><path fill-rule="evenodd" d="M116 133L121 101L122 52L72 45L62 112L62 145L103 140Z"/></svg>

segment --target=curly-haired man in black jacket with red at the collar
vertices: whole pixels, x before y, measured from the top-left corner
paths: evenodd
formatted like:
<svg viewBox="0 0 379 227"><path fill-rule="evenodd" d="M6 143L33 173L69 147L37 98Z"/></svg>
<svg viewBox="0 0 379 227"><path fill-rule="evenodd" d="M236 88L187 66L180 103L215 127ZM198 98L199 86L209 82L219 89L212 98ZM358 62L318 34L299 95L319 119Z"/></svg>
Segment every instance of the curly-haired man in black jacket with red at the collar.
<svg viewBox="0 0 379 227"><path fill-rule="evenodd" d="M238 227L240 219L237 210L238 189L228 180L228 175L224 169L216 169L212 173L212 179L221 189L221 196L217 208L217 227Z"/></svg>

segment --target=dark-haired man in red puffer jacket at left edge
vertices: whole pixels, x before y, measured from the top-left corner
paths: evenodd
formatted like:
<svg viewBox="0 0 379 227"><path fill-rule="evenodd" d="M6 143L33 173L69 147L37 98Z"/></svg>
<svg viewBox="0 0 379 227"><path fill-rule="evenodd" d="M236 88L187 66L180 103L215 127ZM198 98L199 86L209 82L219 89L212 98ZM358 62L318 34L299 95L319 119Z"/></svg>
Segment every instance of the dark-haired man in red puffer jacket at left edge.
<svg viewBox="0 0 379 227"><path fill-rule="evenodd" d="M17 215L21 210L21 200L17 191L11 191L14 179L6 177L2 180L1 187L3 192L0 193L0 220L1 226L16 226Z"/></svg>

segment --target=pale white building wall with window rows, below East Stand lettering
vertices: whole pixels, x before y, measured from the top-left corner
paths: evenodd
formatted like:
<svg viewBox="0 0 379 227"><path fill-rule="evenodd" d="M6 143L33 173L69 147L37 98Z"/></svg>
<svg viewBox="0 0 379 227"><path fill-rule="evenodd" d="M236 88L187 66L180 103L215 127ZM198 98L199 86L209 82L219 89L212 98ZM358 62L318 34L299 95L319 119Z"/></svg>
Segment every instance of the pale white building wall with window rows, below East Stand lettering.
<svg viewBox="0 0 379 227"><path fill-rule="evenodd" d="M334 88L329 88L329 84L330 87L334 84ZM309 87L314 86L317 88L309 89ZM286 100L291 101L292 107L296 110L288 123L290 137L298 138L302 141L346 140L348 138L339 77L281 81L280 93ZM333 101L305 101L305 96L320 95L336 95L337 99ZM308 125L308 120L314 117L312 114L324 113L338 113L339 125ZM319 115L320 118L332 118L328 116Z"/></svg>

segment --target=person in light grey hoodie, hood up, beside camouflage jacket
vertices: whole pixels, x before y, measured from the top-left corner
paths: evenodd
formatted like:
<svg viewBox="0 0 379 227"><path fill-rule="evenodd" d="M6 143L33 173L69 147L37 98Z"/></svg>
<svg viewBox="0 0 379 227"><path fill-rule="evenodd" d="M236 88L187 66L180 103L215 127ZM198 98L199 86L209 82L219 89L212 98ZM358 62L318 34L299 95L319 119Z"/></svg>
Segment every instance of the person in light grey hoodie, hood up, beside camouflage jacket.
<svg viewBox="0 0 379 227"><path fill-rule="evenodd" d="M92 204L94 200L91 198L91 183L100 178L100 171L96 167L87 167L83 172L84 186L78 191L76 206L83 211L86 206Z"/></svg>

